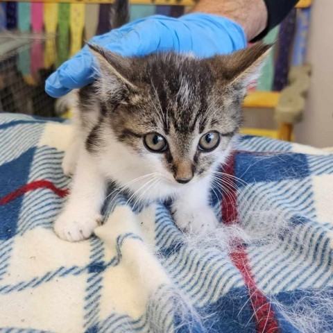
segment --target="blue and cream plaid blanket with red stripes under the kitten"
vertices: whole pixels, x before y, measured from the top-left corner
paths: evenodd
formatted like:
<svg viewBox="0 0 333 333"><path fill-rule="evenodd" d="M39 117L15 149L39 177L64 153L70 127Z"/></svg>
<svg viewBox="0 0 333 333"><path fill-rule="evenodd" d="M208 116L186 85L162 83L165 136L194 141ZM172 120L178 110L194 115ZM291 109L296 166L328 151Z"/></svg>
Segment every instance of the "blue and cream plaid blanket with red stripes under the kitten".
<svg viewBox="0 0 333 333"><path fill-rule="evenodd" d="M333 155L240 137L214 234L116 191L72 244L53 232L70 138L68 121L0 115L0 332L333 332Z"/></svg>

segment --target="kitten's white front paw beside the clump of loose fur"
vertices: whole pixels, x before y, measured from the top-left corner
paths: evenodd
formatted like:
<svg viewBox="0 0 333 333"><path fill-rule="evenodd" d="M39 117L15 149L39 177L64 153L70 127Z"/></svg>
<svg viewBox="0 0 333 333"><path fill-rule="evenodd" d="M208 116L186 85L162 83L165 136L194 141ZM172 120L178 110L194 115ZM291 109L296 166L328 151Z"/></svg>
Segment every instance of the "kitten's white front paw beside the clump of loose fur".
<svg viewBox="0 0 333 333"><path fill-rule="evenodd" d="M196 207L172 207L173 218L178 227L185 232L207 233L214 230L219 221L212 208L207 206Z"/></svg>

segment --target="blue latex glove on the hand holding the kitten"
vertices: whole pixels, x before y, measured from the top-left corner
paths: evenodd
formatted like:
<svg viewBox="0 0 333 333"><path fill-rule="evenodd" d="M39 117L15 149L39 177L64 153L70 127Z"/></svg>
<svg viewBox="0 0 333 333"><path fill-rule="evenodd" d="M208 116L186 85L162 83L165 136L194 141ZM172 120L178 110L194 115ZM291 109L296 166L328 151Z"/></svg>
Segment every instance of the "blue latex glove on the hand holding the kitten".
<svg viewBox="0 0 333 333"><path fill-rule="evenodd" d="M122 56L146 56L156 51L194 53L198 57L231 53L246 46L239 24L216 15L193 13L179 19L155 15L139 19L90 41ZM87 46L64 62L46 80L45 90L60 97L71 89L91 83L96 77L96 60ZM97 73L98 75L98 73Z"/></svg>

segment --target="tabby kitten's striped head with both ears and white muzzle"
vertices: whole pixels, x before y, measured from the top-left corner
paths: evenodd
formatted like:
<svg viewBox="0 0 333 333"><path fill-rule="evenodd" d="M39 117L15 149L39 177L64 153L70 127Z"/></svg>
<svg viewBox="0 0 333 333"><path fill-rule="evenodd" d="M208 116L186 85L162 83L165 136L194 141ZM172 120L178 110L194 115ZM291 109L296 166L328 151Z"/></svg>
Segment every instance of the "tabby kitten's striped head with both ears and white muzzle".
<svg viewBox="0 0 333 333"><path fill-rule="evenodd" d="M180 186L225 161L241 126L246 87L270 46L207 59L176 53L124 58L90 48L101 71L103 121L123 149L146 163L147 173ZM94 149L89 140L87 146Z"/></svg>

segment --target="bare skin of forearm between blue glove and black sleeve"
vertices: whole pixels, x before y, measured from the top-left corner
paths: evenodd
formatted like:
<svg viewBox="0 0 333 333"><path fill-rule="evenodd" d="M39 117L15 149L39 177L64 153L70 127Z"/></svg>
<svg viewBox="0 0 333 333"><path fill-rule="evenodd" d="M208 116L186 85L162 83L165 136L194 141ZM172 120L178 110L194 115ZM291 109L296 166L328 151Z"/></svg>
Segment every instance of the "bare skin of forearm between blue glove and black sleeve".
<svg viewBox="0 0 333 333"><path fill-rule="evenodd" d="M264 0L200 0L193 12L221 15L237 22L253 40L267 26L268 13Z"/></svg>

